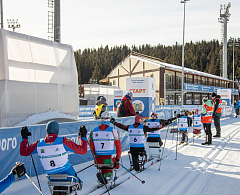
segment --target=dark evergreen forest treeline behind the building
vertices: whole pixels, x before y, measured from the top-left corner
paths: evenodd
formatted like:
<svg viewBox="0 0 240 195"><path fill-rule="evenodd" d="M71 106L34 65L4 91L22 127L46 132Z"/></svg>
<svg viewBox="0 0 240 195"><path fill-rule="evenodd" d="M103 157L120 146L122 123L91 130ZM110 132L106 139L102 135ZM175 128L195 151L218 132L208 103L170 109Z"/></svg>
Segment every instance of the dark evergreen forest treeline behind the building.
<svg viewBox="0 0 240 195"><path fill-rule="evenodd" d="M218 40L190 42L184 47L184 66L220 76L220 49ZM74 52L78 71L78 83L91 83L93 79L99 80L106 78L110 71L118 65L132 51L162 59L164 62L182 66L182 45L176 42L175 45L165 46L150 44L131 46L114 46L109 48L99 47L98 49L86 48L83 51ZM234 48L235 78L240 79L240 49ZM233 75L233 47L227 49L228 78Z"/></svg>

